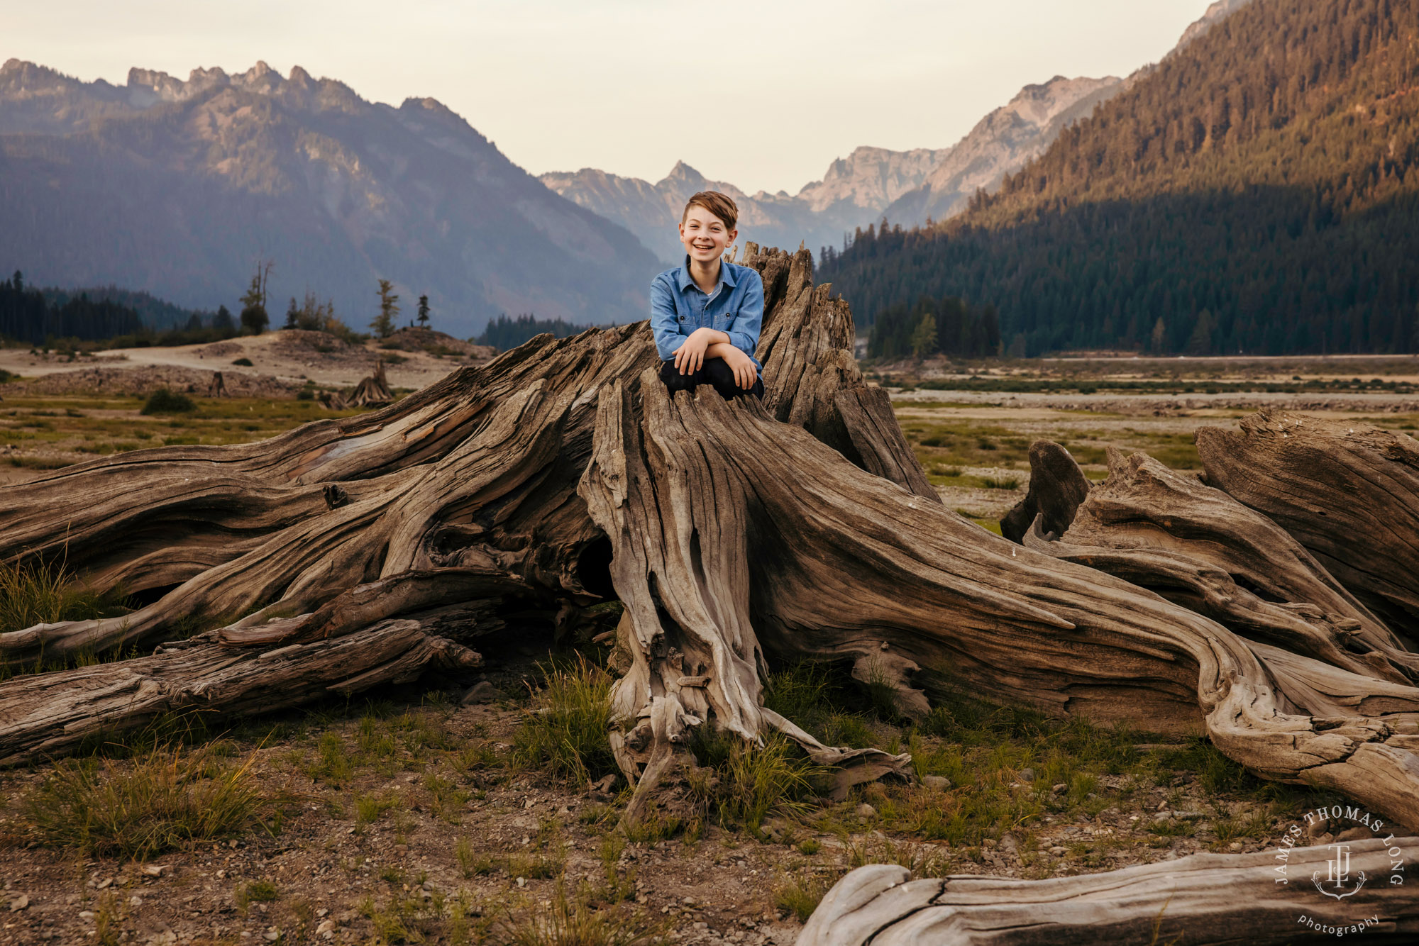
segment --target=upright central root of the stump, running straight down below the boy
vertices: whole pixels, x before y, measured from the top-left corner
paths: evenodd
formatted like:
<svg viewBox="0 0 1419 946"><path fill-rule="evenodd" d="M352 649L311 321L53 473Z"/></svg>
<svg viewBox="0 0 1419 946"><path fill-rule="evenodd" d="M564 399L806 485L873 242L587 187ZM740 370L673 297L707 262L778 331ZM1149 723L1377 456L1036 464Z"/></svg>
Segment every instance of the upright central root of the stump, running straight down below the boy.
<svg viewBox="0 0 1419 946"><path fill-rule="evenodd" d="M634 389L643 396L643 424L636 423ZM708 389L697 399L721 400ZM758 403L752 410L765 416ZM768 665L749 618L752 526L745 496L752 488L732 467L705 462L702 451L712 447L687 435L670 413L654 369L631 389L619 382L604 389L580 486L592 518L612 539L612 580L633 641L631 667L612 691L613 713L626 720L613 730L612 747L637 789L626 820L640 817L684 753L688 732L704 723L755 743L778 729L819 764L841 769L844 789L861 780L854 776L905 774L910 756L823 746L762 706L761 672Z"/></svg>

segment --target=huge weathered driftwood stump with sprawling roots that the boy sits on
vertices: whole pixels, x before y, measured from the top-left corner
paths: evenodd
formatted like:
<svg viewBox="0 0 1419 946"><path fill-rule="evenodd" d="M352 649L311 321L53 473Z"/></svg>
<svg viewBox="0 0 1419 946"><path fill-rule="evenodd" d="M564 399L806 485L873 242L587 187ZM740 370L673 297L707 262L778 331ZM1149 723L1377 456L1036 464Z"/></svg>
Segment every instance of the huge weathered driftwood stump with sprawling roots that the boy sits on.
<svg viewBox="0 0 1419 946"><path fill-rule="evenodd" d="M885 396L863 383L847 306L813 286L809 255L751 247L746 262L769 299L763 403L671 399L640 322L539 336L383 410L270 441L135 451L6 489L0 556L67 555L145 606L3 635L0 660L165 644L0 682L0 759L163 709L244 712L468 665L488 634L617 597L633 667L614 739L644 786L636 806L698 725L785 732L847 781L901 772L902 757L819 746L759 705L766 660L816 658L894 681L908 716L966 685L1205 730L1266 777L1419 824L1419 689L1401 651L1376 644L1374 662L1317 628L1243 637L946 511ZM1321 572L1310 580L1325 586ZM314 657L335 641L370 650ZM299 686L250 672L304 654Z"/></svg>

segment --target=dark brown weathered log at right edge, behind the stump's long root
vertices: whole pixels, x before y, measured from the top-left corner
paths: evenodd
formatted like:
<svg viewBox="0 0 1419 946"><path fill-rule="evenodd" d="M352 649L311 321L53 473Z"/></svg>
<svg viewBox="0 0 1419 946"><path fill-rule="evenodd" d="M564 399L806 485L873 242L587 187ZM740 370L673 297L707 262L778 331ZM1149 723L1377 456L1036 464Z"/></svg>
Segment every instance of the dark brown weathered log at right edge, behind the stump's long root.
<svg viewBox="0 0 1419 946"><path fill-rule="evenodd" d="M1419 443L1288 411L1260 411L1240 427L1198 428L1208 485L1291 533L1416 650Z"/></svg>

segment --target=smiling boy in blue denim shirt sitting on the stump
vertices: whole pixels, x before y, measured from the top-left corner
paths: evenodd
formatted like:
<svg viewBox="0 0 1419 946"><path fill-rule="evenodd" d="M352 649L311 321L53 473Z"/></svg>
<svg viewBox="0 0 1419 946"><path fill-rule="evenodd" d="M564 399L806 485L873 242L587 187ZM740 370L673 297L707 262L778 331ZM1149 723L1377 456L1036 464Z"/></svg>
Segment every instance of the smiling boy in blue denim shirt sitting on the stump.
<svg viewBox="0 0 1419 946"><path fill-rule="evenodd" d="M763 281L749 267L721 260L739 231L739 208L702 190L680 216L685 261L650 284L650 329L660 380L671 394L712 384L725 400L763 400L763 366L753 357L763 322Z"/></svg>

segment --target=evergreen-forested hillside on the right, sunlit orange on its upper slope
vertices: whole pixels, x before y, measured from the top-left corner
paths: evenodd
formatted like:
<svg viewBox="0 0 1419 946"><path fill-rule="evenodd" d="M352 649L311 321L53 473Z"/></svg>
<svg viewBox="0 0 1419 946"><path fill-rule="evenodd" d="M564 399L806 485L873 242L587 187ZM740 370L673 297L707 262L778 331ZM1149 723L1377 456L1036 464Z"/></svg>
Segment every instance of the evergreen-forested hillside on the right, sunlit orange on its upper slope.
<svg viewBox="0 0 1419 946"><path fill-rule="evenodd" d="M1256 0L931 230L823 261L868 322L993 304L1007 353L1419 349L1419 0Z"/></svg>

